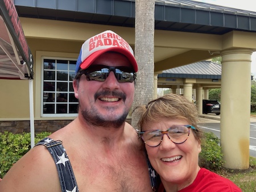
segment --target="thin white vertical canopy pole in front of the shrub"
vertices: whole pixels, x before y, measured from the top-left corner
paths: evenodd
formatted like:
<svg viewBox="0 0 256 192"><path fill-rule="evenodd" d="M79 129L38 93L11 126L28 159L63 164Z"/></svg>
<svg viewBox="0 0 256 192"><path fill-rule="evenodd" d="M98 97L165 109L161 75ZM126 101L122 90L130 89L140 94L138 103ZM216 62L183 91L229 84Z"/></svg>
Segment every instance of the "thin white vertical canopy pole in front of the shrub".
<svg viewBox="0 0 256 192"><path fill-rule="evenodd" d="M35 146L33 80L29 80L29 88L30 88L30 134L31 134L31 148L33 148Z"/></svg>

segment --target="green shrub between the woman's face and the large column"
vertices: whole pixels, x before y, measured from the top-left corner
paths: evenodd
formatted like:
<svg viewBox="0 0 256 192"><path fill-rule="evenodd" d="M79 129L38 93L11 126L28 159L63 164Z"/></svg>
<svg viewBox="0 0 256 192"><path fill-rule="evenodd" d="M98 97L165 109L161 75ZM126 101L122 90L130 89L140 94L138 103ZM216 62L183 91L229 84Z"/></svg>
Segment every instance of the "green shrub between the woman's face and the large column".
<svg viewBox="0 0 256 192"><path fill-rule="evenodd" d="M199 154L199 165L212 171L220 170L224 164L220 139L212 132L205 132L201 141L202 151Z"/></svg>

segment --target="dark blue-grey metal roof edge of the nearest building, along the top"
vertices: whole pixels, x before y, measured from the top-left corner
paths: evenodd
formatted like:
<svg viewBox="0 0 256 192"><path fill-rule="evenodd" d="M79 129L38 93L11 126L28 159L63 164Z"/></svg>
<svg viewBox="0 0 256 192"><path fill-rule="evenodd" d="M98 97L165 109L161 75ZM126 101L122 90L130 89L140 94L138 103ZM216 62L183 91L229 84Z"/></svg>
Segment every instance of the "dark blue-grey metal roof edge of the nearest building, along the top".
<svg viewBox="0 0 256 192"><path fill-rule="evenodd" d="M15 1L19 16L135 26L134 0ZM191 0L156 0L155 29L222 35L256 31L256 12Z"/></svg>

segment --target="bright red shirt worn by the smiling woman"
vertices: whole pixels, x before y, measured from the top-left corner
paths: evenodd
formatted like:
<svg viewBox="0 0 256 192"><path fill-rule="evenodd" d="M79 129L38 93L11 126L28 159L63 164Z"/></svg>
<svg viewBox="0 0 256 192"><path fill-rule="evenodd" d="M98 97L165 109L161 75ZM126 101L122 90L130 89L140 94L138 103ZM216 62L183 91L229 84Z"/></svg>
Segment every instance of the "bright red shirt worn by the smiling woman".
<svg viewBox="0 0 256 192"><path fill-rule="evenodd" d="M208 169L201 168L196 180L179 192L241 192L242 190L227 178L221 177ZM158 192L164 192L163 183L160 184Z"/></svg>

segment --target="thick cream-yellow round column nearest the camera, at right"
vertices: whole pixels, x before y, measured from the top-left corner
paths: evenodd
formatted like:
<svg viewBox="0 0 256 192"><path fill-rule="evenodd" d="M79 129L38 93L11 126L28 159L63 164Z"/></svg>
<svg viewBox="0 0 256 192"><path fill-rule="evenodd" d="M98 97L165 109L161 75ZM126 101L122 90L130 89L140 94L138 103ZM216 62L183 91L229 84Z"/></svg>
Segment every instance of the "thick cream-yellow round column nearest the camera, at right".
<svg viewBox="0 0 256 192"><path fill-rule="evenodd" d="M221 147L229 169L249 168L251 54L250 49L221 52Z"/></svg>

